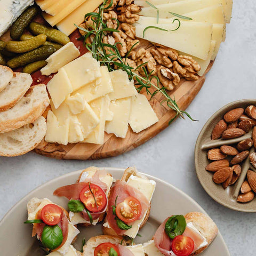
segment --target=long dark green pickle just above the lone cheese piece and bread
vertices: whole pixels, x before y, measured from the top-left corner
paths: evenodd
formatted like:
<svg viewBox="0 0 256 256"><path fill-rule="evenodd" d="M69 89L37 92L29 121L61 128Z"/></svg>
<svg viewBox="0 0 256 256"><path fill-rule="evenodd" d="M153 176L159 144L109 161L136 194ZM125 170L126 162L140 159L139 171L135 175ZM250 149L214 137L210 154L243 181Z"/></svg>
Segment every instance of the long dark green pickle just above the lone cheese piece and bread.
<svg viewBox="0 0 256 256"><path fill-rule="evenodd" d="M18 68L27 65L28 63L38 60L45 60L55 52L55 48L51 45L43 45L35 50L26 52L18 57L7 61L7 66L10 68Z"/></svg>

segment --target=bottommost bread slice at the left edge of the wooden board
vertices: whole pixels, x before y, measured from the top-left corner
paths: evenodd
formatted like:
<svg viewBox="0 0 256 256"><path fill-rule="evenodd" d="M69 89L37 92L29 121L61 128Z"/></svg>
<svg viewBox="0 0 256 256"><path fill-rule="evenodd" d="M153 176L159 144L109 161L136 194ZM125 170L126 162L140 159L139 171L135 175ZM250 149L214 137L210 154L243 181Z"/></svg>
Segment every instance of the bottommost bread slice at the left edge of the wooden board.
<svg viewBox="0 0 256 256"><path fill-rule="evenodd" d="M46 121L43 116L33 124L27 124L17 130L0 133L0 156L20 156L33 150L44 138Z"/></svg>

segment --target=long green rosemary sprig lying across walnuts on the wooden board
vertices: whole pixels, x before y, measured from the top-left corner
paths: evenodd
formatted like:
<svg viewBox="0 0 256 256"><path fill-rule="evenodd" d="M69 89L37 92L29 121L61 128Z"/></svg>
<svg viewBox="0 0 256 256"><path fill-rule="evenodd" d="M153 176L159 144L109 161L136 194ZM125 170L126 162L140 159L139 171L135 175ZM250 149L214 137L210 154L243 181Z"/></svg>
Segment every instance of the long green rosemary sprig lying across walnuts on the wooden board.
<svg viewBox="0 0 256 256"><path fill-rule="evenodd" d="M93 21L93 25L86 29L82 28L76 25L78 29L81 29L85 31L84 36L84 45L85 47L92 53L93 58L100 61L101 65L106 65L108 67L109 71L114 71L115 66L122 68L127 75L129 76L130 81L132 79L135 79L137 82L135 85L137 86L137 90L140 92L142 89L145 89L148 95L151 95L151 98L155 97L157 93L162 93L165 97L165 99L162 101L162 103L166 103L166 105L175 111L175 116L172 118L169 122L172 123L175 118L178 116L185 119L185 115L187 115L192 121L194 121L193 118L186 112L180 110L180 108L177 105L177 102L175 99L172 99L170 95L166 92L166 88L163 86L160 86L159 78L157 76L152 76L152 73L148 73L148 71L145 68L145 65L147 62L142 63L139 67L134 69L133 67L130 67L127 63L127 57L131 50L126 54L126 57L123 60L123 57L121 56L118 47L121 43L115 43L114 45L103 43L103 37L107 36L109 32L119 32L119 22L117 21L117 27L116 29L108 28L106 23L103 21L103 12L104 10L108 9L110 6L113 5L113 0L110 1L107 7L106 4L108 3L108 0L105 0L102 5L99 6L98 12L91 12L85 14L85 21L87 19L91 19ZM87 39L91 39L91 43L86 43ZM122 45L122 44L121 44ZM135 45L132 46L132 48ZM108 52L106 52L106 48L108 48ZM140 75L137 74L138 68L142 68L143 72L145 74ZM156 79L156 84L152 82L153 78ZM153 89L154 91L151 92L149 89Z"/></svg>

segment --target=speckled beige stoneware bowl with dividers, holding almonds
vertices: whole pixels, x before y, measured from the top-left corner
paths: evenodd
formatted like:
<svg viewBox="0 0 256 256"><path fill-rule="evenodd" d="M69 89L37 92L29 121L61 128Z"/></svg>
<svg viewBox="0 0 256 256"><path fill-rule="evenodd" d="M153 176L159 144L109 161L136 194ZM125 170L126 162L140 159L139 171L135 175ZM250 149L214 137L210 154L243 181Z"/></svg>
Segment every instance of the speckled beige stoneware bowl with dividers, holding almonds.
<svg viewBox="0 0 256 256"><path fill-rule="evenodd" d="M252 131L246 133L243 137L236 139L211 140L211 134L215 124L217 124L221 119L223 119L223 116L229 110L234 108L245 109L249 105L256 105L256 99L234 101L219 109L204 125L202 131L200 132L197 138L195 147L196 174L204 190L218 203L230 209L241 212L256 212L256 197L249 203L237 202L237 196L240 194L240 188L242 186L242 183L246 179L247 170L254 170L250 164L249 157L247 157L247 159L245 159L245 161L242 162L242 173L238 180L236 181L236 183L233 186L229 186L226 190L224 190L221 185L215 184L212 181L213 173L206 171L205 167L207 164L212 162L207 158L207 151L209 149L220 147L222 145L232 145L244 139L251 138ZM250 153L254 150L255 149L252 147Z"/></svg>

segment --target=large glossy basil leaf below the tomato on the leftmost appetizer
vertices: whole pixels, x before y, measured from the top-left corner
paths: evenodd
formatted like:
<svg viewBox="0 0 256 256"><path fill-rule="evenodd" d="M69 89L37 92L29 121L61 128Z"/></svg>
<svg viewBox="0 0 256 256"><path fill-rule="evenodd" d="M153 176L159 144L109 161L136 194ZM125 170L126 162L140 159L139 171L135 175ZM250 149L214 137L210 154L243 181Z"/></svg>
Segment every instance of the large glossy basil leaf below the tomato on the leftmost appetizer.
<svg viewBox="0 0 256 256"><path fill-rule="evenodd" d="M50 250L54 250L58 246L60 246L63 241L62 230L58 225L55 225L55 226L46 225L43 229L41 239L42 239L42 244L46 248Z"/></svg>

